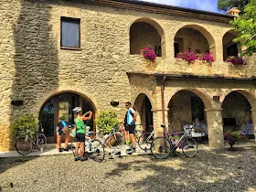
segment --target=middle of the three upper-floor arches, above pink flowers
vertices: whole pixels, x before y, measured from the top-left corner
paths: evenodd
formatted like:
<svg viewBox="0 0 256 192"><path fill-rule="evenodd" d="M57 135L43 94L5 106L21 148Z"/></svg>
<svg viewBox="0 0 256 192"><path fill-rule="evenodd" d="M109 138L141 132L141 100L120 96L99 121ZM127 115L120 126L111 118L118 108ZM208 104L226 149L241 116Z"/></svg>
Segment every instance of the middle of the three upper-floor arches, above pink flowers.
<svg viewBox="0 0 256 192"><path fill-rule="evenodd" d="M185 30L185 28L188 28L189 30ZM187 25L184 25L182 27L178 27L178 29L176 30L176 33L175 33L176 35L174 37L175 53L180 52L184 49L183 44L182 44L182 40L183 40L182 38L183 37L178 37L179 36L178 33L184 33L183 35L181 35L181 36L184 36L184 37L189 35L189 33L196 34L199 39L202 39L202 41L205 41L205 42L202 42L200 46L197 43L195 44L195 46L192 45L193 48L191 48L191 50L193 50L194 52L209 51L209 52L212 53L213 58L216 59L216 43L215 43L215 40L205 27L199 26L197 24L187 24ZM190 46L191 46L191 44L190 44ZM204 48L204 49L208 47L208 49L206 49L206 50L202 49L201 50L200 48L197 48L197 47ZM175 55L175 57L176 57L176 55Z"/></svg>

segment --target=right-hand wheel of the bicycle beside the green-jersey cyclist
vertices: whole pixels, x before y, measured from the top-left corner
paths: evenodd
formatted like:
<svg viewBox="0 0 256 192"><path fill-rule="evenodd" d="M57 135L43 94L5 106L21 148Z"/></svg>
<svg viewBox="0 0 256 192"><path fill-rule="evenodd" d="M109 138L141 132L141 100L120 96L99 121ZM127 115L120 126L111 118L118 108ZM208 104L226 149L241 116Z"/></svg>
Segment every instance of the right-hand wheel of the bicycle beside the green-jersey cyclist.
<svg viewBox="0 0 256 192"><path fill-rule="evenodd" d="M103 144L98 139L94 139L90 144L91 159L96 162L101 162L105 157L105 149Z"/></svg>

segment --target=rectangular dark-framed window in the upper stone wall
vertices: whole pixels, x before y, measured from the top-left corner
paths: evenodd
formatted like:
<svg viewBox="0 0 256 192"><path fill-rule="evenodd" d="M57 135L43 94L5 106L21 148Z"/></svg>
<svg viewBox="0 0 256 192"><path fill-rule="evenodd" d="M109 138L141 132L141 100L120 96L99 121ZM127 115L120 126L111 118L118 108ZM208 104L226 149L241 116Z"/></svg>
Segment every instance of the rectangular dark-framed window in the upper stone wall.
<svg viewBox="0 0 256 192"><path fill-rule="evenodd" d="M80 19L61 17L60 47L80 48Z"/></svg>

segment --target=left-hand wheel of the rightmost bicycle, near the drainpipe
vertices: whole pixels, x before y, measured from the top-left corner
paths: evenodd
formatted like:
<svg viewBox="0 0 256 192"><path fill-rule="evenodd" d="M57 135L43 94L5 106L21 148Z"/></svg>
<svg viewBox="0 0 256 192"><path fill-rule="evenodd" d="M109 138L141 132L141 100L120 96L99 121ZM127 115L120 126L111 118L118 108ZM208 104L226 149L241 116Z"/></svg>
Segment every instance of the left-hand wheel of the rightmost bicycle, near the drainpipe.
<svg viewBox="0 0 256 192"><path fill-rule="evenodd" d="M165 137L156 137L151 143L151 154L157 159L165 159L171 150L171 144Z"/></svg>

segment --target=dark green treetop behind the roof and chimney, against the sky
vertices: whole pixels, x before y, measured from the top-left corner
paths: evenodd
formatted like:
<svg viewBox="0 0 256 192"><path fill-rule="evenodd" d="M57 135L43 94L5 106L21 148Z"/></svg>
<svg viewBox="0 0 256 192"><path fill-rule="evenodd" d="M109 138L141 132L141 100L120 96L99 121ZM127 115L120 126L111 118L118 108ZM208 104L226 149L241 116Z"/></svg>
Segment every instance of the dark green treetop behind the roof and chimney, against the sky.
<svg viewBox="0 0 256 192"><path fill-rule="evenodd" d="M243 12L245 5L249 2L250 0L218 0L218 9L226 12L232 7L237 7Z"/></svg>

